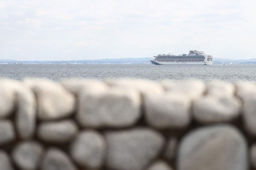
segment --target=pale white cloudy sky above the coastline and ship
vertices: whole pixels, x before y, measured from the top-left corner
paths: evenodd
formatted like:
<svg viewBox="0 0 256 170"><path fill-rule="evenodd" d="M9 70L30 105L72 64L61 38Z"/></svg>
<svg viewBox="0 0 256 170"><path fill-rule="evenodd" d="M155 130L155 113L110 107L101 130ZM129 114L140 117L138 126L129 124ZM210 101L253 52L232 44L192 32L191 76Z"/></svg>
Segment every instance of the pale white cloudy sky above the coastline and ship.
<svg viewBox="0 0 256 170"><path fill-rule="evenodd" d="M0 0L0 59L256 58L255 0Z"/></svg>

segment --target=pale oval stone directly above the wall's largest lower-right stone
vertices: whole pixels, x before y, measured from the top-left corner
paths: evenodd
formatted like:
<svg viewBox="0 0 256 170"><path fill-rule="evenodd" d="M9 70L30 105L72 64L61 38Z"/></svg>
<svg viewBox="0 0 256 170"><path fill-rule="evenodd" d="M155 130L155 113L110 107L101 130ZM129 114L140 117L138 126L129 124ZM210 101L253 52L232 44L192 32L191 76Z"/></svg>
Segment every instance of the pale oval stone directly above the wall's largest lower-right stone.
<svg viewBox="0 0 256 170"><path fill-rule="evenodd" d="M205 96L193 103L193 116L201 123L230 122L241 111L241 101L234 96Z"/></svg>

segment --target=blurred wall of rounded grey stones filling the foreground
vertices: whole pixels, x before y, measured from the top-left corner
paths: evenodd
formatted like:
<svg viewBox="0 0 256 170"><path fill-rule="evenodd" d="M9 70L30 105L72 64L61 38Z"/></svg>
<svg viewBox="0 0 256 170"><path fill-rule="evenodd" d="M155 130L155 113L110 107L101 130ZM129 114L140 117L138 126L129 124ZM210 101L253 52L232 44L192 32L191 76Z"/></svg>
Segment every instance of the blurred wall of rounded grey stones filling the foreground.
<svg viewBox="0 0 256 170"><path fill-rule="evenodd" d="M256 85L0 80L0 170L253 170Z"/></svg>

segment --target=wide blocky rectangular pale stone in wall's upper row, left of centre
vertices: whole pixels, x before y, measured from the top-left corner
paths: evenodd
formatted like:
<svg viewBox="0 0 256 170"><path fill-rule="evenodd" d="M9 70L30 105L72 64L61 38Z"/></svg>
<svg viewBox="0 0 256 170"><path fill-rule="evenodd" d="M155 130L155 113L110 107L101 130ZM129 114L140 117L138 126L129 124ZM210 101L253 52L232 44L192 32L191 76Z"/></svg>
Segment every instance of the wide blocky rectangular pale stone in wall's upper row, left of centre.
<svg viewBox="0 0 256 170"><path fill-rule="evenodd" d="M92 88L81 94L76 119L82 127L127 127L140 118L140 104L137 91Z"/></svg>

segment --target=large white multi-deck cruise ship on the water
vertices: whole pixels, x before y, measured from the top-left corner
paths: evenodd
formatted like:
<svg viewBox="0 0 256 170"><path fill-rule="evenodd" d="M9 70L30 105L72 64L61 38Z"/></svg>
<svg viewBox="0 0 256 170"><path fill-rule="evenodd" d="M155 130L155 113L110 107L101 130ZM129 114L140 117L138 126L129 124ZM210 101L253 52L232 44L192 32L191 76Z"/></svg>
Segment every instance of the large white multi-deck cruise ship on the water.
<svg viewBox="0 0 256 170"><path fill-rule="evenodd" d="M189 54L159 54L150 61L155 65L211 65L212 55L190 50Z"/></svg>

